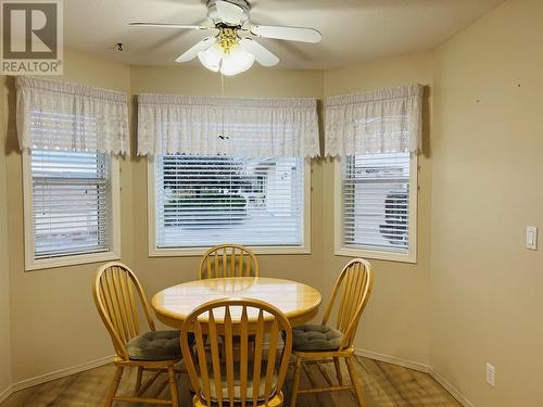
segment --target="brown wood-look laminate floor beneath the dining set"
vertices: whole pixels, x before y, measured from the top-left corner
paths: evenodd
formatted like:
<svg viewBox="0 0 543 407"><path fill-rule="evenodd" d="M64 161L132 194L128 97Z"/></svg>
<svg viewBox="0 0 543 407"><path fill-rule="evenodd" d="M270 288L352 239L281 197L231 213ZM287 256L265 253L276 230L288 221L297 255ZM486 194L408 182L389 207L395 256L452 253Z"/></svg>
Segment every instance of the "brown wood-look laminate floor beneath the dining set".
<svg viewBox="0 0 543 407"><path fill-rule="evenodd" d="M343 378L349 378L342 361ZM357 357L356 370L363 382L366 407L378 406L460 406L430 376L395 365ZM114 367L106 365L78 374L68 376L49 383L20 391L0 404L0 407L90 407L103 406L105 393L113 378ZM293 369L289 369L286 399L289 399ZM310 365L302 374L301 389L324 385L328 380L336 383L333 364ZM345 380L345 379L344 379ZM121 391L128 394L134 389L136 370L125 369ZM157 381L156 387L161 382ZM153 384L154 385L154 384ZM160 391L160 389L159 389ZM168 397L167 390L162 397ZM188 377L179 380L180 406L191 406ZM288 406L288 403L286 403ZM115 403L114 407L138 407L135 404ZM143 405L141 405L143 406ZM300 407L350 407L357 406L353 392L302 394L296 406Z"/></svg>

